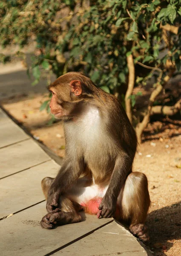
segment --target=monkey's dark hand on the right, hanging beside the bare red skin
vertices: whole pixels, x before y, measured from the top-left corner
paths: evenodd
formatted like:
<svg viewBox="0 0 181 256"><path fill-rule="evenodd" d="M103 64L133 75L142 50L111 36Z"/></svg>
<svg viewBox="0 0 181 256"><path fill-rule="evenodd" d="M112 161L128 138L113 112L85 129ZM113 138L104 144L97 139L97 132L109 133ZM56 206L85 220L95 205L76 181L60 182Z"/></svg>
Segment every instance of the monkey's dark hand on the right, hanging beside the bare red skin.
<svg viewBox="0 0 181 256"><path fill-rule="evenodd" d="M102 216L103 218L111 218L115 214L116 201L110 197L103 197L101 204L99 205L98 218Z"/></svg>

